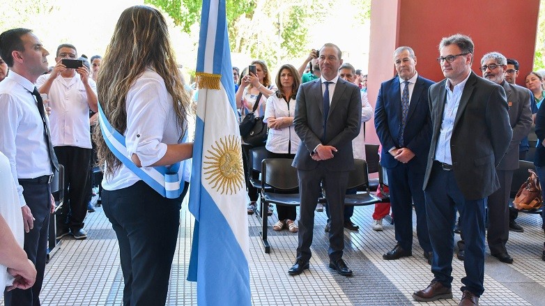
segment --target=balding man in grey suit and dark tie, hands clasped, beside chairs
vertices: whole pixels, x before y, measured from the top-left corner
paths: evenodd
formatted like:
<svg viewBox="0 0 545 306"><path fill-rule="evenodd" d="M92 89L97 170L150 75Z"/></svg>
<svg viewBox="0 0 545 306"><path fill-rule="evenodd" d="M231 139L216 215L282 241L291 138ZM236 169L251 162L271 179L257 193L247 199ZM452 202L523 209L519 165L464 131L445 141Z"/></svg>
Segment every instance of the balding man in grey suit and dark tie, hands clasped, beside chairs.
<svg viewBox="0 0 545 306"><path fill-rule="evenodd" d="M330 268L352 275L342 259L344 250L344 195L348 173L354 169L352 139L360 132L360 88L340 79L341 50L326 43L318 54L321 77L302 84L297 93L293 125L302 141L293 167L298 169L300 191L299 245L297 259L289 269L298 275L309 268L312 256L314 209L321 183L330 209Z"/></svg>

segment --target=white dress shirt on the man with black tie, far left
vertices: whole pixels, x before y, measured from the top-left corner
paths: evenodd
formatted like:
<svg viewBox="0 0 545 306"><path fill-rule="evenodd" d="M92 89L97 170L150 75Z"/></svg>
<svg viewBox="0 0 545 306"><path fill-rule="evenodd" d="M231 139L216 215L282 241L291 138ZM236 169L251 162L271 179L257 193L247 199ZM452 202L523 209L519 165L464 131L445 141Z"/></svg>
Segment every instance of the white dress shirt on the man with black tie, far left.
<svg viewBox="0 0 545 306"><path fill-rule="evenodd" d="M13 70L0 82L0 152L10 161L21 206L26 201L17 179L53 174L42 117L32 91L34 84Z"/></svg>

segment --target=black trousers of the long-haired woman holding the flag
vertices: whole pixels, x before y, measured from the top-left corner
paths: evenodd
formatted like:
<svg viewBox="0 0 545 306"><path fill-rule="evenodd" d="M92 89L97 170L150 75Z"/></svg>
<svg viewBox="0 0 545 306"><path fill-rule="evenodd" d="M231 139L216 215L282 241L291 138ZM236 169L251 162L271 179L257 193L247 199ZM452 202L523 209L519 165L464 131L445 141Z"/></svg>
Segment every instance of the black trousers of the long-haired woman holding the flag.
<svg viewBox="0 0 545 306"><path fill-rule="evenodd" d="M125 288L123 305L164 305L176 250L180 209L143 181L120 190L102 190L102 207L116 232Z"/></svg>

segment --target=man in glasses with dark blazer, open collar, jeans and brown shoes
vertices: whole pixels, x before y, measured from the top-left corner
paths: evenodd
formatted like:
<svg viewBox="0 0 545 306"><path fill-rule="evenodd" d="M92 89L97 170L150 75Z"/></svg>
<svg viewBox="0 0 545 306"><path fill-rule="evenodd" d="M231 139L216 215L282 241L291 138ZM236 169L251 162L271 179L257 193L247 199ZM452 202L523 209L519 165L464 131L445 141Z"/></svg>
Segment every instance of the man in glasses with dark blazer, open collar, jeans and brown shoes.
<svg viewBox="0 0 545 306"><path fill-rule="evenodd" d="M471 38L461 34L443 38L439 52L446 79L428 92L432 136L424 176L434 278L413 298L422 302L452 298L457 208L466 239L466 277L461 280L459 305L478 305L484 292L486 198L500 188L496 166L507 152L512 129L505 90L471 71Z"/></svg>

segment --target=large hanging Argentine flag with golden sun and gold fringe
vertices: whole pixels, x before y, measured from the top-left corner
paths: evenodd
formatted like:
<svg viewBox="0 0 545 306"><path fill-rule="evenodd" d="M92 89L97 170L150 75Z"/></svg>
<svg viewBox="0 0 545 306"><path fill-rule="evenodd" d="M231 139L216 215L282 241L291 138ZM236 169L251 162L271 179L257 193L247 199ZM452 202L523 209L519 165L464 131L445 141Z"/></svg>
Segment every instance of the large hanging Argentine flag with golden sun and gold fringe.
<svg viewBox="0 0 545 306"><path fill-rule="evenodd" d="M189 209L195 227L187 280L199 305L251 305L247 194L225 0L204 0Z"/></svg>

